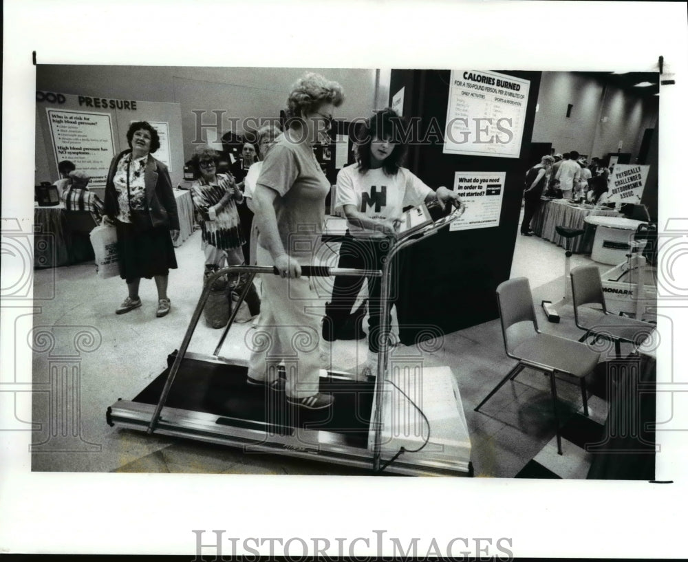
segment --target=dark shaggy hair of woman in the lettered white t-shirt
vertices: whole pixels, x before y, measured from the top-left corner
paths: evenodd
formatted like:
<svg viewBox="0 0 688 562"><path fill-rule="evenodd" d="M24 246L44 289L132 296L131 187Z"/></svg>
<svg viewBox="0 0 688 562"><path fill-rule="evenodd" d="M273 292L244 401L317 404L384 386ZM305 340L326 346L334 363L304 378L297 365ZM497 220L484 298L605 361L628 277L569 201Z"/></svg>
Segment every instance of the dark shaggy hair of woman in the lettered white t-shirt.
<svg viewBox="0 0 688 562"><path fill-rule="evenodd" d="M404 131L404 120L394 109L387 107L376 111L373 116L360 123L356 128L354 142L356 142L356 161L358 171L365 173L370 169L370 144L374 138L389 138L394 142L394 149L383 162L383 170L387 175L396 175L406 157L407 145Z"/></svg>

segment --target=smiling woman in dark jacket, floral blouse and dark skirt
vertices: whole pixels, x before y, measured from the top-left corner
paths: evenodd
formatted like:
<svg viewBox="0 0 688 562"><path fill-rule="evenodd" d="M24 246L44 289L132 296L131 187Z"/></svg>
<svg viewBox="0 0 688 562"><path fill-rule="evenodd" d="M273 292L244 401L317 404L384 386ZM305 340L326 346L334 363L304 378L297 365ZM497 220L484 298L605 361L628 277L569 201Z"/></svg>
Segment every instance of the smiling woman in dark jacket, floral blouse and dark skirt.
<svg viewBox="0 0 688 562"><path fill-rule="evenodd" d="M120 277L129 296L115 311L125 314L141 306L142 277L155 279L158 318L169 313L169 270L177 268L173 239L179 236L179 217L167 166L151 153L160 148L158 131L149 122L136 121L127 131L129 149L113 158L105 183L107 224L117 228Z"/></svg>

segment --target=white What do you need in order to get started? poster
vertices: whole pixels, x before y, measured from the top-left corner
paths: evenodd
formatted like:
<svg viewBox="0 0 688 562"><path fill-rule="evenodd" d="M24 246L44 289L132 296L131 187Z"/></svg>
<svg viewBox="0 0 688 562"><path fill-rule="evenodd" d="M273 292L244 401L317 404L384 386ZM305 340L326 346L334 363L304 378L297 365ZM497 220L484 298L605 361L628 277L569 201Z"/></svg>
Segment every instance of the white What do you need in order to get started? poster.
<svg viewBox="0 0 688 562"><path fill-rule="evenodd" d="M466 211L452 221L449 230L471 230L499 226L506 172L456 172L454 193L466 204Z"/></svg>

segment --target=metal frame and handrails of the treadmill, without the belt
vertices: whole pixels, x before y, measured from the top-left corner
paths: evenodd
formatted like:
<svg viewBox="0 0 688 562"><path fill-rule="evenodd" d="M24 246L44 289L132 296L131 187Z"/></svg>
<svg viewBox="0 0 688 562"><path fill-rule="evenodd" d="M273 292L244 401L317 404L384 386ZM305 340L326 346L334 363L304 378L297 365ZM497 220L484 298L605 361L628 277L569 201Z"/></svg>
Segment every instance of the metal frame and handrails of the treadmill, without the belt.
<svg viewBox="0 0 688 562"><path fill-rule="evenodd" d="M387 260L383 263L383 270L354 270L343 268L327 268L320 266L302 267L304 275L318 275L318 276L365 276L365 277L381 277L380 282L380 301L383 305L383 314L380 318L380 332L385 334L389 332L390 326L388 322L388 315L391 304L389 303L390 281L389 275L391 272L391 263L394 257L403 250L418 241L435 234L440 228L449 225L451 221L457 219L464 213L465 207L460 204L452 213L446 217L442 217L434 221L420 230L401 236L396 239L396 243L392 244ZM210 294L213 281L224 274L231 273L250 273L250 282L252 283L257 273L261 274L275 274L275 268L264 266L229 266L215 272L206 280L204 289L200 299L195 307L189 327L186 329L184 339L180 345L173 365L165 382L160 400L158 404L153 407L153 404L144 404L141 402L133 402L132 400L118 400L112 404L106 413L106 420L110 426L118 424L127 429L145 430L150 435L153 432L160 435L171 435L173 437L185 437L202 442L214 444L226 444L230 446L237 446L244 448L244 451L260 452L260 453L277 453L281 455L288 455L290 457L297 457L308 460L318 460L321 462L330 462L338 465L353 466L356 468L371 468L374 474L395 473L401 475L473 475L473 466L471 462L440 462L438 460L423 459L422 457L413 457L410 455L387 455L392 457L393 462L385 459L388 464L381 468L383 463L383 453L381 451L381 415L383 407L383 385L385 382L385 375L387 373L387 363L389 359L388 338L381 338L381 347L378 354L377 376L374 386L373 397L373 411L372 420L370 420L369 432L374 433L372 456L368 446L356 447L346 444L343 437L332 431L312 430L294 427L293 433L299 433L301 437L306 437L308 440L294 438L292 435L278 435L266 429L251 429L248 427L238 427L228 424L218 423L219 419L230 419L229 416L217 415L212 413L203 413L191 410L176 409L165 407L166 400L169 396L169 391L173 385L175 376L177 375L182 360L186 358L193 358L213 363L222 363L231 365L217 356L219 349L224 343L224 338L233 324L234 318L239 310L239 305L244 301L246 293L248 292L249 283L239 296L239 301L233 307L228 324L224 329L222 338L215 349L214 356L206 356L187 352L189 343L195 331L198 321L202 315L204 305ZM235 364L235 363L234 363ZM325 373L325 371L321 371ZM350 376L345 374L337 374L336 371L325 373L326 380L351 380ZM321 374L321 380L323 374ZM251 422L256 426L267 426L266 422ZM366 440L367 441L367 440ZM313 443L314 446L304 446L304 442Z"/></svg>

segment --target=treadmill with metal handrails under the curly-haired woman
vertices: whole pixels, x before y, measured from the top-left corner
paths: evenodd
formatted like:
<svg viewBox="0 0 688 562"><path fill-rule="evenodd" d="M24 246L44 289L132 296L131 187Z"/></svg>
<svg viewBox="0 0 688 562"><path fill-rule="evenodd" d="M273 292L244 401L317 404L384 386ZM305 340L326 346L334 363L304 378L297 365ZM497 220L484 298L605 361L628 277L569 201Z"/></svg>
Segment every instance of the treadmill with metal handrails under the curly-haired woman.
<svg viewBox="0 0 688 562"><path fill-rule="evenodd" d="M431 214L432 210L423 204L405 213L382 271L302 266L302 274L381 277L380 331L388 334L394 257L458 219L464 206L451 213ZM213 281L242 272L250 273L252 282L256 274L276 274L277 270L230 266L208 277L179 349L168 356L167 368L133 400L120 399L108 407L110 426L223 444L246 453L330 462L375 475L473 475L471 441L450 367L424 367L417 353L399 358L395 354L390 361L389 338L382 338L375 377L361 381L355 374L321 369L320 391L332 393L334 404L314 411L288 404L283 392L248 385L246 361L219 356L248 283L215 352L188 352ZM279 376L285 376L296 361L283 360Z"/></svg>

